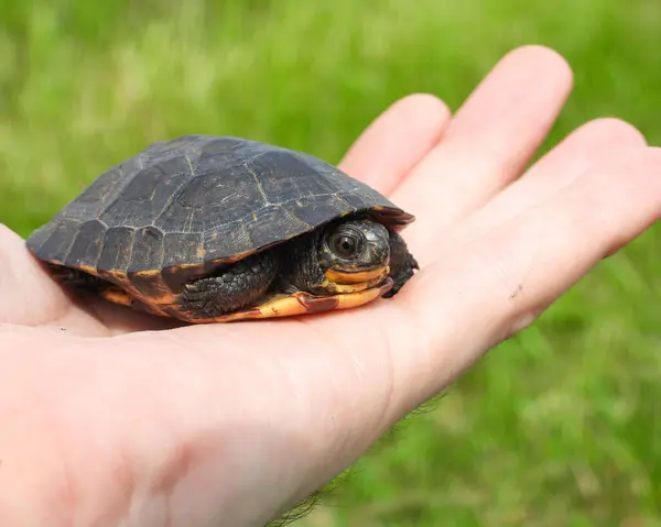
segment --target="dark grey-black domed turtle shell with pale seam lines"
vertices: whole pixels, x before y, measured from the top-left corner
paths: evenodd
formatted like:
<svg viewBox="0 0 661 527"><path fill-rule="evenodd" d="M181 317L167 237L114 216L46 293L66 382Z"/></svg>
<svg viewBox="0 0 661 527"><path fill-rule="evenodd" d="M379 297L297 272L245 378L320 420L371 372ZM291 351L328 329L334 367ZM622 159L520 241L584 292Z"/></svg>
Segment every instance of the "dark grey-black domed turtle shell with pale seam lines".
<svg viewBox="0 0 661 527"><path fill-rule="evenodd" d="M240 138L185 135L100 175L26 243L46 263L149 299L357 212L392 230L413 221L312 155Z"/></svg>

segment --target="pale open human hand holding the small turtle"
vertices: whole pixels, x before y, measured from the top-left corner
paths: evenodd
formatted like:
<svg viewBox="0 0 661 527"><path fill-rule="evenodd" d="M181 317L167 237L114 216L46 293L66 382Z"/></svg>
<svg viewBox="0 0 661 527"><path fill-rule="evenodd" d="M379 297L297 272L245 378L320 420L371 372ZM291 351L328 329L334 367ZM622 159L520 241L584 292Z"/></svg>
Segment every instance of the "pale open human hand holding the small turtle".
<svg viewBox="0 0 661 527"><path fill-rule="evenodd" d="M527 169L571 86L524 47L454 116L415 95L366 130L342 167L416 216L421 271L364 308L167 329L75 304L1 229L0 525L261 526L350 465L660 217L622 121Z"/></svg>

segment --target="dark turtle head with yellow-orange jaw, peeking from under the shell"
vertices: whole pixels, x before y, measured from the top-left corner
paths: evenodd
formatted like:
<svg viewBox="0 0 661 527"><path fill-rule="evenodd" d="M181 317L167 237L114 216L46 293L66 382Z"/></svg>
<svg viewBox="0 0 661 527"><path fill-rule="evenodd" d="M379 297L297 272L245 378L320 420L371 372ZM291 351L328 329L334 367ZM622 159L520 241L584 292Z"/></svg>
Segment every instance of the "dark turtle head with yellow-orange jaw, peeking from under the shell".
<svg viewBox="0 0 661 527"><path fill-rule="evenodd" d="M390 271L390 232L370 219L343 219L325 229L317 261L322 287L351 293L380 284Z"/></svg>

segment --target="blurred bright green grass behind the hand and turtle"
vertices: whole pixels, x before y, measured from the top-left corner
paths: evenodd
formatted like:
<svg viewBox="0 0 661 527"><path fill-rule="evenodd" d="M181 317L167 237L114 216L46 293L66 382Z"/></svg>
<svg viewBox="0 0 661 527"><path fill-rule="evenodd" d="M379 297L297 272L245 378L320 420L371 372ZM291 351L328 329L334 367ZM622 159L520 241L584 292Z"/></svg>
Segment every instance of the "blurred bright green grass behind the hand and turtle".
<svg viewBox="0 0 661 527"><path fill-rule="evenodd" d="M599 116L661 142L659 0L3 0L0 221L25 235L183 133L336 162L393 100L454 109L529 43L576 73L544 149ZM602 263L297 525L661 525L660 243Z"/></svg>

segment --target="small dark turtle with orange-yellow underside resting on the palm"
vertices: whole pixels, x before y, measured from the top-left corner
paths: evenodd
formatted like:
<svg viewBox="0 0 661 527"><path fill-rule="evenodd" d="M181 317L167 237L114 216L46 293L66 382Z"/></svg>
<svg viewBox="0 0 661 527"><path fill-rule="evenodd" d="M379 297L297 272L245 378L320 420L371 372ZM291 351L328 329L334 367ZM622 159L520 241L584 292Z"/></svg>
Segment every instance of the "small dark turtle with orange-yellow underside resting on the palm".
<svg viewBox="0 0 661 527"><path fill-rule="evenodd" d="M192 134L102 173L26 246L72 293L230 322L392 298L419 270L414 219L311 154Z"/></svg>

